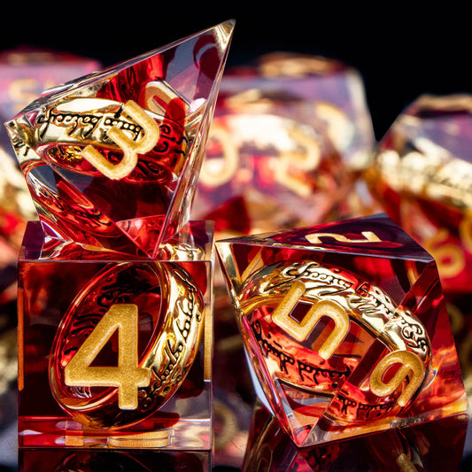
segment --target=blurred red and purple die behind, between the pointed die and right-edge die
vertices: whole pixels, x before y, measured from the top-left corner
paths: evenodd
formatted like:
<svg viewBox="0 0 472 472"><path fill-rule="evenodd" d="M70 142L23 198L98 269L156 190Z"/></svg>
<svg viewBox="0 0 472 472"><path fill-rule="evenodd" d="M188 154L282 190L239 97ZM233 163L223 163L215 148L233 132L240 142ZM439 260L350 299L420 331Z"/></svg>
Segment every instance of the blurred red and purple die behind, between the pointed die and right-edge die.
<svg viewBox="0 0 472 472"><path fill-rule="evenodd" d="M337 211L374 143L357 71L268 54L221 81L193 215L217 235L318 224Z"/></svg>

